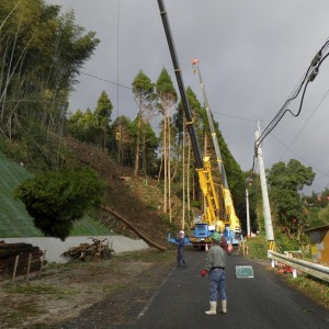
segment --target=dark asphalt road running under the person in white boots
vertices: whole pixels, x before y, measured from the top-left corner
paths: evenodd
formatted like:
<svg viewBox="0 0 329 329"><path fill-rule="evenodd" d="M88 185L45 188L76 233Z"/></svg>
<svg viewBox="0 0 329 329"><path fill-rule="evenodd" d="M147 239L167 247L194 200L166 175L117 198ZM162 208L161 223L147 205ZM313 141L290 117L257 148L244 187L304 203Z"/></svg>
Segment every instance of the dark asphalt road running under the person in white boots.
<svg viewBox="0 0 329 329"><path fill-rule="evenodd" d="M200 275L204 258L204 251L185 251L188 266L172 270L134 325L115 328L329 328L326 308L288 287L270 266L238 254L227 258L228 314L206 316L208 279ZM251 265L254 277L238 279L237 265Z"/></svg>

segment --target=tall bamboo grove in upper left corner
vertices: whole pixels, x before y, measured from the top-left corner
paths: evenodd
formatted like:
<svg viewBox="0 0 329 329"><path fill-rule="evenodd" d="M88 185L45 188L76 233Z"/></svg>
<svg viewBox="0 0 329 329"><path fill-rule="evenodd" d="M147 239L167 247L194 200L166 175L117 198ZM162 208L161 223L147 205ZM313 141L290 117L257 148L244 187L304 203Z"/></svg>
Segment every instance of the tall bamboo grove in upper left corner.
<svg viewBox="0 0 329 329"><path fill-rule="evenodd" d="M42 0L1 1L0 22L1 137L60 132L79 70L99 44L95 33Z"/></svg>

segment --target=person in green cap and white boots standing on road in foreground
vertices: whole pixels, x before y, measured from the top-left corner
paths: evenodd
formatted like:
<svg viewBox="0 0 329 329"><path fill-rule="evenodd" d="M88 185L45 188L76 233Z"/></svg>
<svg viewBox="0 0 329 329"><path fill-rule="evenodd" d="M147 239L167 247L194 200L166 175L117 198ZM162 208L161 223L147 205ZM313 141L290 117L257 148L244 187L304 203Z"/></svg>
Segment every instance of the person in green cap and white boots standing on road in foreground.
<svg viewBox="0 0 329 329"><path fill-rule="evenodd" d="M217 314L217 298L219 295L222 302L222 313L227 313L227 296L225 284L225 265L227 243L226 239L218 232L212 235L214 241L211 247L207 257L205 259L205 265L201 271L201 275L205 276L207 273L209 276L209 303L211 309L206 310L206 315Z"/></svg>

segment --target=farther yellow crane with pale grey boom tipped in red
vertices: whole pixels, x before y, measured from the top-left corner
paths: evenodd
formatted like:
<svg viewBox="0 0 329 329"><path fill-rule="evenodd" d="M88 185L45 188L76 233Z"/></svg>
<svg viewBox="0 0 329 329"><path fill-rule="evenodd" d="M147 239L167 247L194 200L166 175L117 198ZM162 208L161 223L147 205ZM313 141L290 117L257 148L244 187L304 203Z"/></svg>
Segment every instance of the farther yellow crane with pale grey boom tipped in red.
<svg viewBox="0 0 329 329"><path fill-rule="evenodd" d="M224 214L223 222L225 224L225 227L223 227L223 226L219 227L218 231L224 234L224 236L228 240L230 240L232 245L237 245L238 239L241 236L241 225L240 225L240 220L239 220L238 216L236 215L231 193L230 193L230 190L228 186L226 171L225 171L224 162L223 162L222 155L220 155L220 148L218 145L218 138L217 138L217 134L216 134L215 127L214 127L213 114L212 114L212 111L209 107L209 103L208 103L208 99L207 99L207 94L206 94L206 90L205 90L205 84L204 84L204 81L203 81L202 75L201 75L200 60L193 59L192 65L193 65L194 72L196 71L197 76L198 76L198 81L200 81L200 86L201 86L203 99L204 99L204 107L205 107L207 118L208 118L213 145L214 145L216 157L217 157L218 170L219 170L220 179L222 179L222 192L223 192L223 198L224 198L224 205L225 205L225 214Z"/></svg>

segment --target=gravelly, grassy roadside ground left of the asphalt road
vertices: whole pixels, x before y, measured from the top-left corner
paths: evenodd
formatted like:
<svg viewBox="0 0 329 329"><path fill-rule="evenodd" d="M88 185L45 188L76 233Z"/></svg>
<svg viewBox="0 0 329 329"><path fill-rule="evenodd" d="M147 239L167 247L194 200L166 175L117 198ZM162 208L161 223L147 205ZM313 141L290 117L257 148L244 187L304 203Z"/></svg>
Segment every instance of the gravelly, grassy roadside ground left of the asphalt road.
<svg viewBox="0 0 329 329"><path fill-rule="evenodd" d="M136 320L166 280L175 249L48 266L39 279L2 283L0 328L101 329Z"/></svg>

